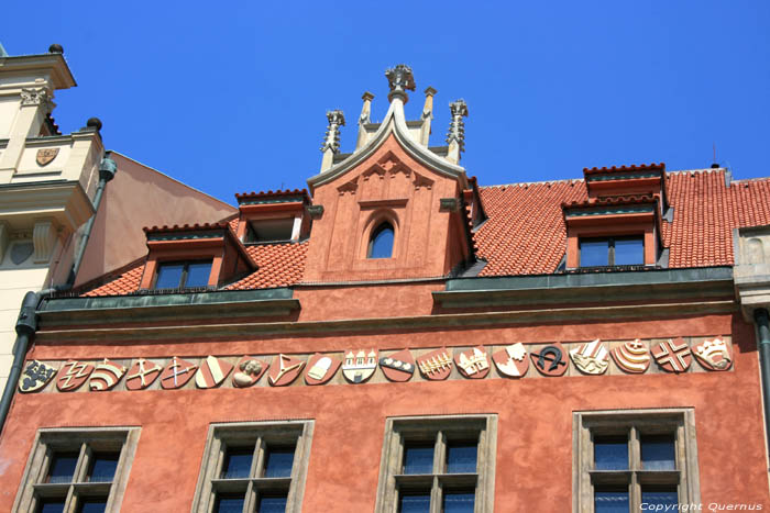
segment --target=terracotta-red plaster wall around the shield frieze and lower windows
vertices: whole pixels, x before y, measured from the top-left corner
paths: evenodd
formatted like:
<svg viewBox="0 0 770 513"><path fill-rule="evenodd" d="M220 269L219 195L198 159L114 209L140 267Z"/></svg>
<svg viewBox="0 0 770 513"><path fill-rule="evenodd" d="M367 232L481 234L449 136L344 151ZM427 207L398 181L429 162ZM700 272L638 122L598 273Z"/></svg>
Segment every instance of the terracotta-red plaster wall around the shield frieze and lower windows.
<svg viewBox="0 0 770 513"><path fill-rule="evenodd" d="M312 302L311 293L305 292L308 303ZM717 334L733 336L734 371L543 378L530 368L522 380L490 376L484 380L275 389L264 386L263 378L255 388L244 390L19 395L0 438L0 511L9 510L13 502L38 427L142 426L123 511L187 511L209 423L315 419L304 511L363 512L374 508L386 417L498 413L495 511L563 512L571 509L572 497L572 412L667 406L695 409L704 504L741 502L768 508L756 343L751 326L732 315L417 333L316 334L231 342L147 341L136 345L88 343L68 347L37 344L30 357L275 354L362 346L414 349L443 344ZM169 487L169 483L174 484Z"/></svg>

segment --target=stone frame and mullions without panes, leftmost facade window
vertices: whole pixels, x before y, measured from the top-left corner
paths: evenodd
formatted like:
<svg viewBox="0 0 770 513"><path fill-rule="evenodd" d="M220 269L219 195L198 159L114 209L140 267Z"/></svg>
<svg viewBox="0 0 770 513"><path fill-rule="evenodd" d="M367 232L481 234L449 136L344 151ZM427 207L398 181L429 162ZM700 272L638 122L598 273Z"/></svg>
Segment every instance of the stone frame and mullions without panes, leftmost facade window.
<svg viewBox="0 0 770 513"><path fill-rule="evenodd" d="M136 453L140 431L139 427L40 430L35 435L12 511L36 511L44 499L62 497L65 500L64 511L76 511L80 499L106 497L105 511L119 512ZM95 455L106 450L120 453L112 481L89 482L86 478ZM54 456L76 451L78 459L73 480L61 483L46 482Z"/></svg>

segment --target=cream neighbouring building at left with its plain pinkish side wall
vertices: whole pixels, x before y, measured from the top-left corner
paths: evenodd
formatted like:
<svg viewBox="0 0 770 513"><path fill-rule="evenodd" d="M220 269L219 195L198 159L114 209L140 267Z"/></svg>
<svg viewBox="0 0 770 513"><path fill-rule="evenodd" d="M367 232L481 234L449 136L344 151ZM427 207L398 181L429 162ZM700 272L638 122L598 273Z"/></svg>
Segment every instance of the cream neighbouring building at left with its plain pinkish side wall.
<svg viewBox="0 0 770 513"><path fill-rule="evenodd" d="M96 118L62 134L54 94L75 86L58 45L41 55L0 53L0 390L26 291L81 285L141 258L143 224L212 222L234 213L114 152L102 165Z"/></svg>

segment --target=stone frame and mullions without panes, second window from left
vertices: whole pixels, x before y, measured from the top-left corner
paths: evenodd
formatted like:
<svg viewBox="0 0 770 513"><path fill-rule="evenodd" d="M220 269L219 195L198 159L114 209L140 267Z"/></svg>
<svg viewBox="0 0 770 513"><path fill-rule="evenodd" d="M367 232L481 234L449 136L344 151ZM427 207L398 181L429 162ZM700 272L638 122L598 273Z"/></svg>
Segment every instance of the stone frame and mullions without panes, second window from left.
<svg viewBox="0 0 770 513"><path fill-rule="evenodd" d="M286 492L286 513L301 512L314 426L311 420L211 424L191 511L211 513L215 511L218 492L241 493L241 488L245 486L243 511L256 511L261 497ZM292 475L288 478L257 476L257 472L264 470L267 446L275 444L280 447L290 443L295 445ZM221 478L228 446L244 447L250 444L254 445L254 455L249 477Z"/></svg>

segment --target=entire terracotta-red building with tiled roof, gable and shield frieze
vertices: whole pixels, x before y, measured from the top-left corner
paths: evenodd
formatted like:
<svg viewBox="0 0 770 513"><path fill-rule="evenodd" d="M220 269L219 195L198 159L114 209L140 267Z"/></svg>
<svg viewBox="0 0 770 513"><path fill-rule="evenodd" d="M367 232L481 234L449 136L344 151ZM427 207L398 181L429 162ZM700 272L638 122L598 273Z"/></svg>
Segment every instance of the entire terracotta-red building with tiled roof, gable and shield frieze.
<svg viewBox="0 0 770 513"><path fill-rule="evenodd" d="M33 298L0 510L770 508L770 180L480 187L465 102L430 146L436 90L406 120L411 70L386 75L352 154L328 113L309 190L146 227L133 267Z"/></svg>

